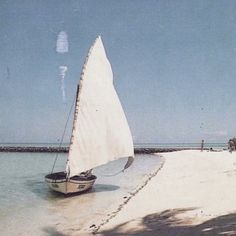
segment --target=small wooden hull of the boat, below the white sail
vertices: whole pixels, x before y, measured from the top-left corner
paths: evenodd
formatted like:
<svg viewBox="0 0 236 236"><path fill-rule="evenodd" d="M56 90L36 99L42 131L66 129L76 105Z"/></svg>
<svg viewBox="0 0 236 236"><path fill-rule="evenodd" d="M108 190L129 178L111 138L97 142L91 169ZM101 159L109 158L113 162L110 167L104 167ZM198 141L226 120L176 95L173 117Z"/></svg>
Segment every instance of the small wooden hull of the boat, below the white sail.
<svg viewBox="0 0 236 236"><path fill-rule="evenodd" d="M72 194L84 192L92 188L97 177L91 175L89 177L73 176L72 178L66 179L66 173L57 172L45 176L50 189L63 194Z"/></svg>

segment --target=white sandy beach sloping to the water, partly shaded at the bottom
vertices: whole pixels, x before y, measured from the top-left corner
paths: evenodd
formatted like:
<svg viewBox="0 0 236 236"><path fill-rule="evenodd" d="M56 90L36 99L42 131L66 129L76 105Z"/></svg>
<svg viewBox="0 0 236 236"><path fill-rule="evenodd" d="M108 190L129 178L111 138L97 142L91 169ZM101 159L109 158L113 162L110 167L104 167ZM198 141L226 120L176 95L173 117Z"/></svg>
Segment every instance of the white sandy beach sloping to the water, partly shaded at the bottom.
<svg viewBox="0 0 236 236"><path fill-rule="evenodd" d="M101 234L236 235L236 153L165 153L159 173ZM221 217L220 217L221 216Z"/></svg>

